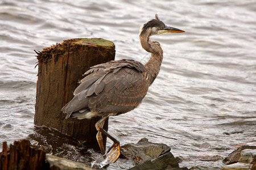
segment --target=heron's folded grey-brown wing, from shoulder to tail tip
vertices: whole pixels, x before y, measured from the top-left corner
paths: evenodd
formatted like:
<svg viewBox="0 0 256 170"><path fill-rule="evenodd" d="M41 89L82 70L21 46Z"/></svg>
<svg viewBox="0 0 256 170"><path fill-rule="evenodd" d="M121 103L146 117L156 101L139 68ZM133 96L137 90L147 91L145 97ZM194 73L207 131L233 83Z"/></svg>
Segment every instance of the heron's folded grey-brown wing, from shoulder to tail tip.
<svg viewBox="0 0 256 170"><path fill-rule="evenodd" d="M137 107L147 93L142 63L131 59L110 61L91 67L76 88L73 99L61 111L125 113Z"/></svg>

